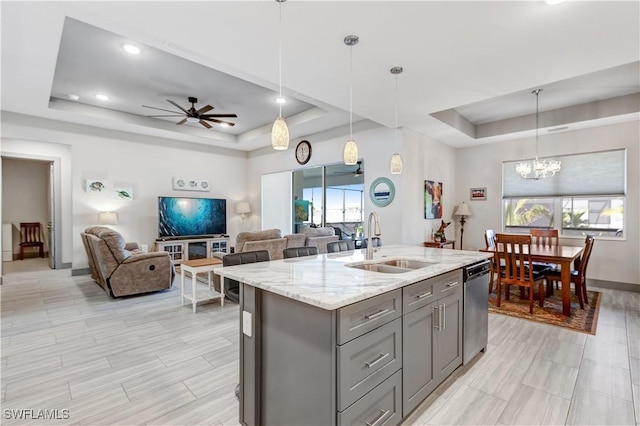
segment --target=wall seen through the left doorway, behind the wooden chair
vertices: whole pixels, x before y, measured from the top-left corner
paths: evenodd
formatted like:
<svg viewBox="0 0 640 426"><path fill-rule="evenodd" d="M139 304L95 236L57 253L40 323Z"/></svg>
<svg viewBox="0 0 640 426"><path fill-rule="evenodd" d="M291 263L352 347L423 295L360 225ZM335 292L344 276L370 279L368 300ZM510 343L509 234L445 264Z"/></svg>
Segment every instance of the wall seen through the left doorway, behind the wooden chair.
<svg viewBox="0 0 640 426"><path fill-rule="evenodd" d="M41 238L45 241L45 252L48 252L49 163L3 158L2 184L2 217L12 224L12 252L20 252L20 222L40 223Z"/></svg>

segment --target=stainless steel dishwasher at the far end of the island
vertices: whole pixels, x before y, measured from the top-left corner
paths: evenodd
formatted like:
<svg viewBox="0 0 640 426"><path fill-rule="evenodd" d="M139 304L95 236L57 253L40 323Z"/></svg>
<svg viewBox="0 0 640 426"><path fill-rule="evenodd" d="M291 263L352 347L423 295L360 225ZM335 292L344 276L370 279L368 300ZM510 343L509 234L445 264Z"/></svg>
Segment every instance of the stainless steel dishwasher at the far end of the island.
<svg viewBox="0 0 640 426"><path fill-rule="evenodd" d="M489 327L489 260L464 268L462 364L487 349Z"/></svg>

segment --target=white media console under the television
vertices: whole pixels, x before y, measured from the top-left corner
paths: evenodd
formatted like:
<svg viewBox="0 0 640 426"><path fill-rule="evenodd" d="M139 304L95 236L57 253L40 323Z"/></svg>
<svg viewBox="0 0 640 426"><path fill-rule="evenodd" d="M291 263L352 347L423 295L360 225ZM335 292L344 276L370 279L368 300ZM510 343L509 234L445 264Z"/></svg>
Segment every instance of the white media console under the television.
<svg viewBox="0 0 640 426"><path fill-rule="evenodd" d="M185 260L212 257L213 253L229 253L229 237L166 237L156 240L154 251L166 251L174 264Z"/></svg>

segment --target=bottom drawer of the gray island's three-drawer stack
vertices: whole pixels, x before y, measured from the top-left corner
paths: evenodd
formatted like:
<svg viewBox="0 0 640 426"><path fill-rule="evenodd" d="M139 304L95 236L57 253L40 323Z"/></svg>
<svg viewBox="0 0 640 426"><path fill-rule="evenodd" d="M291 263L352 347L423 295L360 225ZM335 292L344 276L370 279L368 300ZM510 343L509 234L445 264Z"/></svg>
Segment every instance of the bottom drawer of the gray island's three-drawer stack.
<svg viewBox="0 0 640 426"><path fill-rule="evenodd" d="M375 387L362 399L338 413L339 425L392 426L402 420L401 372Z"/></svg>

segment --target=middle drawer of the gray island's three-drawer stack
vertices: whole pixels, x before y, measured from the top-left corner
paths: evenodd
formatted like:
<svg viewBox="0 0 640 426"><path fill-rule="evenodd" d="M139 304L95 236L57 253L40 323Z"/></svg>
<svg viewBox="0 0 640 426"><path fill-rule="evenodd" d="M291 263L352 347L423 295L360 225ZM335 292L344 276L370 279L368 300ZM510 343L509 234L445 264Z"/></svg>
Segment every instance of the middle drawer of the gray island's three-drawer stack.
<svg viewBox="0 0 640 426"><path fill-rule="evenodd" d="M341 411L402 367L402 320L338 346L337 351Z"/></svg>

